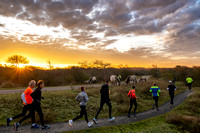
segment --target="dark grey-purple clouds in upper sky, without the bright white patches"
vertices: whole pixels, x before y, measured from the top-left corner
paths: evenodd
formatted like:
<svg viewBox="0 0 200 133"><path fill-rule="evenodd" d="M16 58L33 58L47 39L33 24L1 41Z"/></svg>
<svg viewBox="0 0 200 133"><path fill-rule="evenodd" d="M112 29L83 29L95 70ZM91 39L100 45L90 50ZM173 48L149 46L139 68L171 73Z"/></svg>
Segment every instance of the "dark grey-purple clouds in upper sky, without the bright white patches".
<svg viewBox="0 0 200 133"><path fill-rule="evenodd" d="M197 0L1 0L0 15L37 25L62 25L70 30L71 38L78 44L95 43L96 46L89 46L93 49L117 41L107 37L163 35L164 32L167 33L163 35L164 46L169 53L179 51L180 56L184 52L195 53L200 45L200 6ZM103 39L94 37L97 33L104 33ZM48 40L47 36L25 37ZM70 39L49 40L48 43L60 46L64 42L70 42Z"/></svg>

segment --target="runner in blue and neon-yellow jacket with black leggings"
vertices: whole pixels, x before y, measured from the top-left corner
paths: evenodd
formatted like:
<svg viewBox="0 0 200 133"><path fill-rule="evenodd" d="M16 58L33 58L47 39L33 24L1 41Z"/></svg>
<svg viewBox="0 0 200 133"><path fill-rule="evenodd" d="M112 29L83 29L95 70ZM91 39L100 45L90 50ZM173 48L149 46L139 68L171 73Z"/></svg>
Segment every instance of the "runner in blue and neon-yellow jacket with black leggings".
<svg viewBox="0 0 200 133"><path fill-rule="evenodd" d="M157 111L159 111L159 108L158 108L158 97L159 97L159 93L160 93L160 88L158 86L156 86L156 83L153 84L153 86L150 89L150 92L152 92L152 96L153 96L153 99L155 101L155 104L153 105L152 109L154 109L154 107L156 106Z"/></svg>

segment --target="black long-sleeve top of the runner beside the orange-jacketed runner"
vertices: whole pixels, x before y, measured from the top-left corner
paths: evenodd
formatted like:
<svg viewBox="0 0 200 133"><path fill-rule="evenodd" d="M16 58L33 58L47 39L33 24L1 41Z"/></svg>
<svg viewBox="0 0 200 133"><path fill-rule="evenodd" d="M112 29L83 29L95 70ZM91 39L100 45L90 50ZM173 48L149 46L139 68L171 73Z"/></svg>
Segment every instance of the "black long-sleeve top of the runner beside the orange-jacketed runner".
<svg viewBox="0 0 200 133"><path fill-rule="evenodd" d="M33 93L31 93L31 97L34 100L34 104L41 104L41 98L42 98L42 91L41 88L38 87L34 90Z"/></svg>

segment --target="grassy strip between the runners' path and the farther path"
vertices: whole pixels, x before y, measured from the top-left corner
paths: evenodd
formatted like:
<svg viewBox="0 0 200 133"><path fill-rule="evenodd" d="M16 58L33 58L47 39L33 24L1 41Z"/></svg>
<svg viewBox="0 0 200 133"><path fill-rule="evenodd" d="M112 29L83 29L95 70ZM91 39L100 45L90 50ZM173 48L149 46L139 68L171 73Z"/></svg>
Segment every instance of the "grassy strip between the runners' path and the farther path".
<svg viewBox="0 0 200 133"><path fill-rule="evenodd" d="M154 103L149 89L152 82L157 82L161 88L161 94L159 99L159 105L169 100L169 95L166 90L168 82L164 80L149 80L148 82L138 83L136 85L136 95L138 97L138 110L142 112L152 108ZM186 87L183 83L177 82L177 94L183 92ZM126 115L129 109L129 98L127 93L131 85L110 87L111 95L110 99L112 102L112 115ZM90 100L87 105L88 117L92 119L100 104L100 88L87 88L86 93ZM66 91L52 91L44 92L43 96L45 99L42 101L42 108L46 123L64 122L79 114L80 108L79 103L75 101L76 95L79 90L66 90ZM5 120L7 117L13 117L14 115L21 113L23 108L21 101L21 94L6 94L0 95L0 125L6 125ZM38 115L36 120L39 121ZM108 107L105 105L99 118L108 117ZM17 121L17 120L15 120ZM26 121L25 123L30 123Z"/></svg>

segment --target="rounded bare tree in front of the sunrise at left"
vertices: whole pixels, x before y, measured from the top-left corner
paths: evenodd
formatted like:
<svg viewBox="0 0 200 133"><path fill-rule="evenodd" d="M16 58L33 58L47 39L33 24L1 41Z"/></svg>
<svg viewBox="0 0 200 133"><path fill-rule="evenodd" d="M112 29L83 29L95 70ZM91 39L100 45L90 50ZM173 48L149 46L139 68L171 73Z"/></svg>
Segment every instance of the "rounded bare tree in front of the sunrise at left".
<svg viewBox="0 0 200 133"><path fill-rule="evenodd" d="M21 55L13 55L11 57L8 57L6 62L11 63L18 68L19 64L28 64L29 60L26 57L23 57Z"/></svg>

